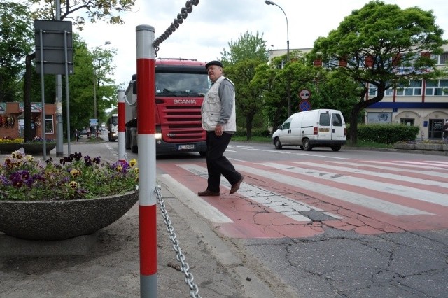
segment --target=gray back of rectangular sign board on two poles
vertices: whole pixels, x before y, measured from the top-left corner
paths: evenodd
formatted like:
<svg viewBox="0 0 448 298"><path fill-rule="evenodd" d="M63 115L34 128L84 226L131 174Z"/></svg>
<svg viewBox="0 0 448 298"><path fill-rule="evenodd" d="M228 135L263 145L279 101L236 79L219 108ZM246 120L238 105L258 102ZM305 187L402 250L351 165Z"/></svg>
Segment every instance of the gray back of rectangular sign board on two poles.
<svg viewBox="0 0 448 298"><path fill-rule="evenodd" d="M71 22L34 20L36 72L44 74L73 74L73 34ZM41 57L42 55L42 57Z"/></svg>

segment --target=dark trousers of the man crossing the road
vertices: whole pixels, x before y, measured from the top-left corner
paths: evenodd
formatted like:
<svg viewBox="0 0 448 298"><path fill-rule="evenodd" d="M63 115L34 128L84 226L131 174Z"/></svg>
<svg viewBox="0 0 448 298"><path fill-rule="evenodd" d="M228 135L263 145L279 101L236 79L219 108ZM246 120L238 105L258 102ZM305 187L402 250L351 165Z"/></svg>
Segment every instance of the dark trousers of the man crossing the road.
<svg viewBox="0 0 448 298"><path fill-rule="evenodd" d="M222 136L216 136L214 131L207 132L207 171L209 179L207 180L207 190L219 192L221 184L221 174L226 178L230 185L234 185L241 179L241 174L235 170L235 166L223 156L225 149L232 139L232 134L223 132Z"/></svg>

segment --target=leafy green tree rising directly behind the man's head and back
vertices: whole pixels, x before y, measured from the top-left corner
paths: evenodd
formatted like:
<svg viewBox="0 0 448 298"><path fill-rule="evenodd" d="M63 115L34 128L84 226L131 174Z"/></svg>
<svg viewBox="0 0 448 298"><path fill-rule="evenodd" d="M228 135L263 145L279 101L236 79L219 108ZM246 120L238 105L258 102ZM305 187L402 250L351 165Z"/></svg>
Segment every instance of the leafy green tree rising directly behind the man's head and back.
<svg viewBox="0 0 448 298"><path fill-rule="evenodd" d="M225 66L225 76L235 83L235 96L237 113L244 115L247 139L252 137L252 127L255 115L260 111L261 90L252 83L255 69L258 65L266 63L268 52L266 42L258 32L241 34L235 43L230 41L229 52L221 52L221 61Z"/></svg>

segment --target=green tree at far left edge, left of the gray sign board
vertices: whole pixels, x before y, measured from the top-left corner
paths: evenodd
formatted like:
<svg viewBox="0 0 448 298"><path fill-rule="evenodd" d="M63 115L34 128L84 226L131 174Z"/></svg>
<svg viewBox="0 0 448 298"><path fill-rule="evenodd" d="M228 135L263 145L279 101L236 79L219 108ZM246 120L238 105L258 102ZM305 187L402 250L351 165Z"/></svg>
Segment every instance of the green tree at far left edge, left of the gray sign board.
<svg viewBox="0 0 448 298"><path fill-rule="evenodd" d="M32 22L26 6L0 3L0 102L19 97L23 60L31 52Z"/></svg>

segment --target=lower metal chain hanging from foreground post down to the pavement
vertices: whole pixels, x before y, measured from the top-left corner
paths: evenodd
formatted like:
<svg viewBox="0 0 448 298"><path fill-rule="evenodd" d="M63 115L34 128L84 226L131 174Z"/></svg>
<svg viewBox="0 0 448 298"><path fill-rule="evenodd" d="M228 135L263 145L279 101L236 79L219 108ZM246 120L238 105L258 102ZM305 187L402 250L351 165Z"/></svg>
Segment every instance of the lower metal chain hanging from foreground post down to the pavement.
<svg viewBox="0 0 448 298"><path fill-rule="evenodd" d="M195 284L193 274L189 271L190 266L187 262L185 262L186 258L183 255L181 247L179 246L179 241L176 239L176 233L174 233L174 227L172 225L171 220L169 220L169 216L167 213L167 208L165 207L165 201L162 199L162 192L160 190L160 185L156 185L155 193L158 198L158 202L160 205L160 210L162 211L162 216L165 221L165 225L167 225L167 231L169 232L169 239L171 239L173 243L173 249L176 251L176 259L181 262L181 271L185 274L185 282L190 287L190 297L193 298L201 298L199 295L199 288Z"/></svg>

